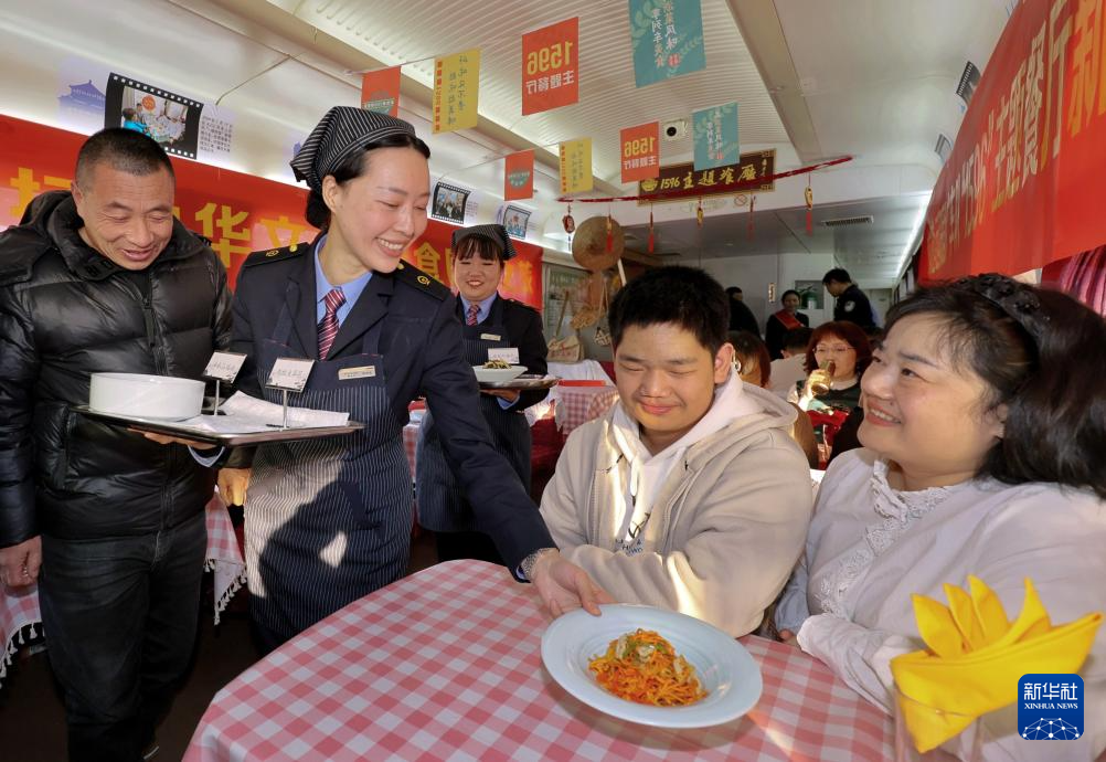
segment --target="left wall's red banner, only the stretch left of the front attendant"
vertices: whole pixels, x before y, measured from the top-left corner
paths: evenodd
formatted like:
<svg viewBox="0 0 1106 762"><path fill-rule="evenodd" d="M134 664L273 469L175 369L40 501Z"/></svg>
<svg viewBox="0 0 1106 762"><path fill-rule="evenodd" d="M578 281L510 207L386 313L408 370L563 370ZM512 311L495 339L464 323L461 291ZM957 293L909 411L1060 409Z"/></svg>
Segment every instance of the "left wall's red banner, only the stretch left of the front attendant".
<svg viewBox="0 0 1106 762"><path fill-rule="evenodd" d="M85 135L0 115L0 226L17 225L44 190L69 188ZM311 241L303 219L307 190L197 161L170 158L177 175L173 211L189 230L211 239L233 283L250 252Z"/></svg>

